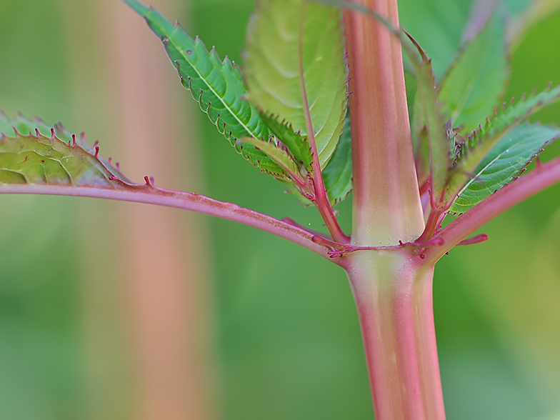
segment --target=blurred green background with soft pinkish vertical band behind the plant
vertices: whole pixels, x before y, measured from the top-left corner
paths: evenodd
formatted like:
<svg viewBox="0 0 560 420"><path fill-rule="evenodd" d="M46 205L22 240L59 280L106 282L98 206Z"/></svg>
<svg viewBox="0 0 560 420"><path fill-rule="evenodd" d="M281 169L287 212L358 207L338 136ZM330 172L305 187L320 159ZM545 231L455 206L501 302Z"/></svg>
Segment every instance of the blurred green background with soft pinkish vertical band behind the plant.
<svg viewBox="0 0 560 420"><path fill-rule="evenodd" d="M241 61L253 0L153 3ZM441 74L470 2L399 6ZM560 84L560 14L511 58L506 98ZM120 1L0 0L0 109L86 131L134 181L154 175L164 188L320 229L316 211L236 156L189 96L159 40ZM144 105L156 109L149 118ZM536 120L560 123L560 107ZM553 144L543 159L559 154ZM350 201L339 205L346 231ZM559 206L560 185L436 266L450 420L560 416ZM173 209L146 216L147 207L0 196L0 420L373 419L344 271L246 226ZM182 267L179 283L166 282L177 276L169 266Z"/></svg>

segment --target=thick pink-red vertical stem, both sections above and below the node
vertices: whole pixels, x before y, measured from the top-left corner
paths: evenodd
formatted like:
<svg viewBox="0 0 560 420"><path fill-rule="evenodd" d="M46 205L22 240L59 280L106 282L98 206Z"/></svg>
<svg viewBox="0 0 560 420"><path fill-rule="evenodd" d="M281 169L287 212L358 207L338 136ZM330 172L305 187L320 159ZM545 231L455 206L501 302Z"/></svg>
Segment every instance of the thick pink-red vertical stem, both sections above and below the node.
<svg viewBox="0 0 560 420"><path fill-rule="evenodd" d="M398 27L396 0L361 0ZM424 231L399 38L344 11L349 54L356 246L395 246ZM431 284L410 250L343 257L361 324L377 420L444 420Z"/></svg>

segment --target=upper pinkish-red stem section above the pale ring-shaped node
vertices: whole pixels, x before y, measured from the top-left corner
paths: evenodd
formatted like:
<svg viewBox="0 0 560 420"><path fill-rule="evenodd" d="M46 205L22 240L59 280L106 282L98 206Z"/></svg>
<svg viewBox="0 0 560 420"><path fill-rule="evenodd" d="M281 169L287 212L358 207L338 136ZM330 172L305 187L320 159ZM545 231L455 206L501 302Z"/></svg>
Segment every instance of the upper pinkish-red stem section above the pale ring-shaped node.
<svg viewBox="0 0 560 420"><path fill-rule="evenodd" d="M398 26L396 0L359 0ZM344 12L350 65L354 244L386 246L424 229L401 45L383 24Z"/></svg>

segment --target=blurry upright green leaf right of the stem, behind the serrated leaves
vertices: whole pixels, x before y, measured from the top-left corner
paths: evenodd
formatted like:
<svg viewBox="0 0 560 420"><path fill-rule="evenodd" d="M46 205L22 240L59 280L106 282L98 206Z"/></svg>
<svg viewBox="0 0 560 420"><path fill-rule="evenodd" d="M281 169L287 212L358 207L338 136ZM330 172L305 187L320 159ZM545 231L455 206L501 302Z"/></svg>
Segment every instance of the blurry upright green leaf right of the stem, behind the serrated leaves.
<svg viewBox="0 0 560 420"><path fill-rule="evenodd" d="M439 85L441 112L468 133L491 115L509 76L504 30L491 19L466 44Z"/></svg>

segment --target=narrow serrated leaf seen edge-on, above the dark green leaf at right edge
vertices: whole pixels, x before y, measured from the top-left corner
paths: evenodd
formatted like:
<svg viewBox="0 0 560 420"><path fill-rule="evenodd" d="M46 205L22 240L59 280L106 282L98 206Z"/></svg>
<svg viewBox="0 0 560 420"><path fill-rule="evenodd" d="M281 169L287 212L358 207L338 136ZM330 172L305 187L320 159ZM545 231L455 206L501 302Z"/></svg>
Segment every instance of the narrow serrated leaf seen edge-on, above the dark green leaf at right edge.
<svg viewBox="0 0 560 420"><path fill-rule="evenodd" d="M501 111L496 111L494 116L486 121L484 127L474 131L469 136L464 149L456 156L453 174L449 179L450 195L455 196L457 194L461 186L469 179L469 174L479 166L484 156L496 146L508 131L539 109L558 99L560 99L560 86L547 89L539 94L533 94L507 108L504 106Z"/></svg>

